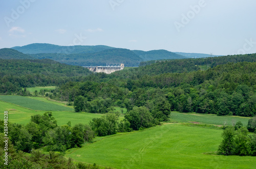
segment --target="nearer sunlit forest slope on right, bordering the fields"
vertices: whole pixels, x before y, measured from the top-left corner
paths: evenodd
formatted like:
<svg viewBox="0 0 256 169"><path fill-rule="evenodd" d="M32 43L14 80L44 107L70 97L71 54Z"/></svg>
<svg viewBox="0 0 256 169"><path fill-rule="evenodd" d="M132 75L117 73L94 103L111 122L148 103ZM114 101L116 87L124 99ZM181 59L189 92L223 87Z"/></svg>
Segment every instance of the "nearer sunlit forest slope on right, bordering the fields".
<svg viewBox="0 0 256 169"><path fill-rule="evenodd" d="M108 101L108 106L132 110L144 106L155 114L157 105L180 112L199 112L218 116L256 114L256 63L219 65L206 71L164 73L135 79L105 78L68 82L59 87L59 96L73 102L78 96L90 107ZM102 100L103 99L103 100ZM108 108L108 107L105 107ZM97 112L100 112L97 111Z"/></svg>

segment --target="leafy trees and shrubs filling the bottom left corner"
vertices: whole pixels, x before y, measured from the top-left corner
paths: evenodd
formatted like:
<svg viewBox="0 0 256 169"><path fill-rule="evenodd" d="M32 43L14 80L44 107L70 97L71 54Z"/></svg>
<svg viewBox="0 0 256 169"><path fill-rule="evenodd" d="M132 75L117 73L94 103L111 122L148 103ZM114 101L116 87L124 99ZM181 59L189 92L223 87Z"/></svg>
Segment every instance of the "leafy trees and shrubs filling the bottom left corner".
<svg viewBox="0 0 256 169"><path fill-rule="evenodd" d="M4 156L3 120L0 120L0 132L0 155ZM71 127L69 122L67 125L58 126L52 112L45 112L43 115L31 116L26 125L9 123L8 132L8 165L1 160L1 168L99 168L96 164L74 163L72 158L63 157L67 149L81 147L83 143L90 142L95 137L89 125L79 123ZM38 148L41 147L46 147L49 153L39 151Z"/></svg>

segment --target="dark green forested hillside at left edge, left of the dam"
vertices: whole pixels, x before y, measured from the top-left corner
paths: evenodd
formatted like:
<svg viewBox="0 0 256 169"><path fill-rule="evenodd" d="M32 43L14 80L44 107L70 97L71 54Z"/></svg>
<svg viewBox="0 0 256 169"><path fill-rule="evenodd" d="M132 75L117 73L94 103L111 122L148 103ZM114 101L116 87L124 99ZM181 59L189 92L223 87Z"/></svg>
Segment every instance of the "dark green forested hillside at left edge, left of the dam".
<svg viewBox="0 0 256 169"><path fill-rule="evenodd" d="M0 93L17 92L21 87L57 86L67 81L79 81L92 74L80 66L44 60L0 59Z"/></svg>

